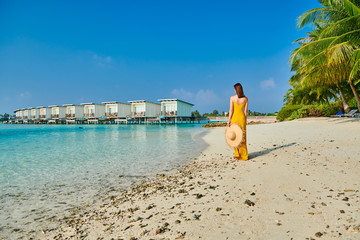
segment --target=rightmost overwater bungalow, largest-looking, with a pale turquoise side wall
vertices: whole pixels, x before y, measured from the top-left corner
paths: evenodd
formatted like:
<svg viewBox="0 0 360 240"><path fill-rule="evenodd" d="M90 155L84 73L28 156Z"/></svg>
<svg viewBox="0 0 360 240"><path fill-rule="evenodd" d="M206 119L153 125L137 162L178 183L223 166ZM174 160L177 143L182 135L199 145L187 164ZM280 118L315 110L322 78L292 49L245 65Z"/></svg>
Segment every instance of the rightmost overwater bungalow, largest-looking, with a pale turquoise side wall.
<svg viewBox="0 0 360 240"><path fill-rule="evenodd" d="M191 117L194 104L180 99L159 99L161 102L160 117Z"/></svg>

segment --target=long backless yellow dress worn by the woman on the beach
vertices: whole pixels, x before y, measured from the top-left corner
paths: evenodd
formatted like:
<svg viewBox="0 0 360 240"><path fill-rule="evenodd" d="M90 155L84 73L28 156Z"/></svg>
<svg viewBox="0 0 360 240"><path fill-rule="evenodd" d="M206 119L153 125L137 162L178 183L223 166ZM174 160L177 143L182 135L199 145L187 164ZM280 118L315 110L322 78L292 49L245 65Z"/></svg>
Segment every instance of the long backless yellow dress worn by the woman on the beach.
<svg viewBox="0 0 360 240"><path fill-rule="evenodd" d="M244 114L244 102L243 104L238 105L236 102L234 102L234 113L231 118L231 123L237 123L241 127L241 129L245 133L245 142L240 148L235 148L234 157L239 158L240 160L248 160L248 151L246 147L246 118Z"/></svg>

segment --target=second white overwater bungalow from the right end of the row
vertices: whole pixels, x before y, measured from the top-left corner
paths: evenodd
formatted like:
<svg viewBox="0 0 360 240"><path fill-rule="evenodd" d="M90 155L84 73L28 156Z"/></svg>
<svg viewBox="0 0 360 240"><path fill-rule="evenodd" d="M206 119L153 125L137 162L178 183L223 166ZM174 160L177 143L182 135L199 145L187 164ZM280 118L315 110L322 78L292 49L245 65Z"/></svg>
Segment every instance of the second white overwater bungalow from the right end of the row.
<svg viewBox="0 0 360 240"><path fill-rule="evenodd" d="M153 118L160 115L161 106L159 103L145 100L129 101L131 103L131 116L135 118Z"/></svg>

